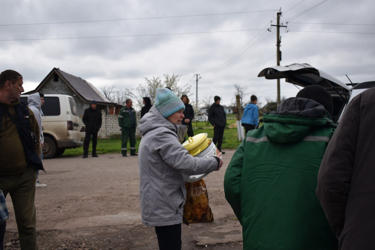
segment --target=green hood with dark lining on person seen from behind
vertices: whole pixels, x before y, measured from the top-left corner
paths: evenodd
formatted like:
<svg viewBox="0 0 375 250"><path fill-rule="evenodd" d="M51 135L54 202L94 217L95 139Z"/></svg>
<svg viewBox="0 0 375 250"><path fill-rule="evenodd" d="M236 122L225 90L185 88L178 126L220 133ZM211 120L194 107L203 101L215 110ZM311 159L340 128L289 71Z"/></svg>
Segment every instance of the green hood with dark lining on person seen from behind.
<svg viewBox="0 0 375 250"><path fill-rule="evenodd" d="M337 126L323 105L299 97L288 98L276 111L265 113L263 122L267 139L277 143L299 142L313 127Z"/></svg>

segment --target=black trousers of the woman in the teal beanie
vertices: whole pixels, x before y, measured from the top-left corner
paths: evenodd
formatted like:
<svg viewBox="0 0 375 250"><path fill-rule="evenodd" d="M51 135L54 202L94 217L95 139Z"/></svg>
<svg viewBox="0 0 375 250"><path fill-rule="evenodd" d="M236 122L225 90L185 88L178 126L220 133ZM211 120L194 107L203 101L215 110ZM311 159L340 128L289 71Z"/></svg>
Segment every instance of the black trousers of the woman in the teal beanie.
<svg viewBox="0 0 375 250"><path fill-rule="evenodd" d="M171 226L155 227L157 235L157 244L160 250L180 250L181 241L181 223Z"/></svg>

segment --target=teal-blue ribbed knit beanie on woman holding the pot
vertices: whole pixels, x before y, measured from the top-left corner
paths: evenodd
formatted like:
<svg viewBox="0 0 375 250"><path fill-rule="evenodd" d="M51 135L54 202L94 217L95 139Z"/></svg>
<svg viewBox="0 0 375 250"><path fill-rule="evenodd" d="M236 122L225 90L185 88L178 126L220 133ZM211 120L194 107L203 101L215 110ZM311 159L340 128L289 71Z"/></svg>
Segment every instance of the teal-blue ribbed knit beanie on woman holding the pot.
<svg viewBox="0 0 375 250"><path fill-rule="evenodd" d="M166 88L156 89L156 109L164 118L170 116L180 109L185 110L185 105L171 90Z"/></svg>

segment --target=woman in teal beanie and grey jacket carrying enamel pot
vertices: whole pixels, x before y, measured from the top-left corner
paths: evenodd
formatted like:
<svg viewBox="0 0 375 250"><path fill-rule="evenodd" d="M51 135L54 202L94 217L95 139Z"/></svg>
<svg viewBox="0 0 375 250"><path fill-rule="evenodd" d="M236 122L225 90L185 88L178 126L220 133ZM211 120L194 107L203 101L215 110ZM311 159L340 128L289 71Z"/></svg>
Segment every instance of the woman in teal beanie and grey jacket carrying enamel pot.
<svg viewBox="0 0 375 250"><path fill-rule="evenodd" d="M139 121L139 195L142 223L154 226L160 249L181 249L181 221L186 200L183 175L219 170L217 157L193 157L181 145L185 105L171 90L156 89L156 101Z"/></svg>

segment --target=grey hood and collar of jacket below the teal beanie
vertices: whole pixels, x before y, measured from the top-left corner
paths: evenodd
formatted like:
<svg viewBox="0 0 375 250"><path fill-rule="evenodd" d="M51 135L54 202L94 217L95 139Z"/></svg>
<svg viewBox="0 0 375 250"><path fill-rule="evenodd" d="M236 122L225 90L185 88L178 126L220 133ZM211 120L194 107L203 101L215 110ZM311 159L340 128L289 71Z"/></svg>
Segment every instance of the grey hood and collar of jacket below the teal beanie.
<svg viewBox="0 0 375 250"><path fill-rule="evenodd" d="M186 125L176 125L167 120L160 114L156 109L155 104L152 105L150 111L146 113L141 120L139 120L138 128L139 133L144 136L148 131L153 130L154 128L165 127L169 130L172 130L177 134L178 139L181 141L186 135L187 126Z"/></svg>

